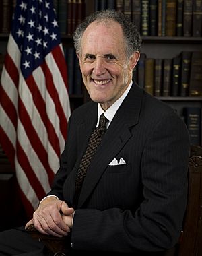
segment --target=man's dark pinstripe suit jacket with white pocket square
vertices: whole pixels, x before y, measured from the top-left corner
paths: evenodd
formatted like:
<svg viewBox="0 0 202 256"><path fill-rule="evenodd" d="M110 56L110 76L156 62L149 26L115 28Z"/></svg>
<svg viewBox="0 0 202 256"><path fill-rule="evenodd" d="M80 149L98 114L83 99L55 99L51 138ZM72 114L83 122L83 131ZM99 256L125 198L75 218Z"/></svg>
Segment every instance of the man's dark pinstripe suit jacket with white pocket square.
<svg viewBox="0 0 202 256"><path fill-rule="evenodd" d="M61 167L49 193L69 206L97 118L97 104L88 102L69 120ZM123 158L126 164L109 166L113 158ZM172 108L133 84L86 174L73 222L73 249L96 255L158 255L172 247L186 208L188 159L184 122Z"/></svg>

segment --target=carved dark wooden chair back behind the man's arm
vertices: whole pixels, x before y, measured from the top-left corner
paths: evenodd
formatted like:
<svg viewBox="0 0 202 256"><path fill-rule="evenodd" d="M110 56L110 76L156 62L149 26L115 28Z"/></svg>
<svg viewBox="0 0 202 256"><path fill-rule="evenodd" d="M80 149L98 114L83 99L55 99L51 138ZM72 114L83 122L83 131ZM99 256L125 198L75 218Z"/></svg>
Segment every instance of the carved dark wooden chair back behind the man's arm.
<svg viewBox="0 0 202 256"><path fill-rule="evenodd" d="M202 255L202 148L191 146L189 192L177 256Z"/></svg>

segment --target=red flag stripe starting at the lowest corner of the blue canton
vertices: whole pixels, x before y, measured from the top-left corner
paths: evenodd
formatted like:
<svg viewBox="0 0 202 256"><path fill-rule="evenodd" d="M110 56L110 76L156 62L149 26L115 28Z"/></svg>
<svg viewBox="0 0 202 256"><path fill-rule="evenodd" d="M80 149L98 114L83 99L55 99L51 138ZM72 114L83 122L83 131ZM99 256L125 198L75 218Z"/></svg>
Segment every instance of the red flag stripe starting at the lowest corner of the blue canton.
<svg viewBox="0 0 202 256"><path fill-rule="evenodd" d="M34 104L38 109L38 112L40 113L40 118L42 119L44 126L46 127L50 144L53 146L57 156L59 157L61 154L59 139L57 137L57 134L55 133L55 129L52 123L48 119L48 115L46 113L46 103L44 102L44 99L42 98L40 91L38 90L38 86L36 85L36 82L34 81L34 78L32 75L30 75L30 77L26 79L26 84L30 88L30 92L32 92L32 98L34 100Z"/></svg>

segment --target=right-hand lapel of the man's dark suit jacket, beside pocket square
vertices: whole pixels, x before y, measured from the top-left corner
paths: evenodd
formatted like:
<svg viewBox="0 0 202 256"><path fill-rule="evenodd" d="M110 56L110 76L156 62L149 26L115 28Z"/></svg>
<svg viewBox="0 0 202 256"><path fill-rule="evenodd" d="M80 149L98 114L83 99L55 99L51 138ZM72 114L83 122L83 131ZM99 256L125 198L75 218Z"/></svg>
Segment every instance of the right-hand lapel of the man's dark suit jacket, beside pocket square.
<svg viewBox="0 0 202 256"><path fill-rule="evenodd" d="M129 128L136 125L139 121L142 97L143 91L133 85L129 94L123 101L123 104L114 116L112 123L110 123L90 163L81 189L78 207L83 205L90 193L92 193L92 190L96 186L96 183L98 183L98 180L104 170L106 170L108 164L131 138ZM100 168L100 166L102 167Z"/></svg>

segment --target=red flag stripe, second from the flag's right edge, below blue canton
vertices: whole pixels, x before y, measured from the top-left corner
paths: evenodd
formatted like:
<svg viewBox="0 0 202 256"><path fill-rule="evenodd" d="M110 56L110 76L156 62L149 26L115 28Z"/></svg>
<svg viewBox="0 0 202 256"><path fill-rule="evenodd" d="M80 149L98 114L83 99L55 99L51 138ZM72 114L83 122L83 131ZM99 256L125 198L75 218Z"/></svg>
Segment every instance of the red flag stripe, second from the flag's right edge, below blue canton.
<svg viewBox="0 0 202 256"><path fill-rule="evenodd" d="M50 69L48 68L48 65L46 63L43 63L41 65L42 70L44 72L44 75L46 77L46 88L55 102L55 109L57 112L57 115L60 118L60 130L63 135L63 138L66 139L67 135L67 119L65 117L65 113L63 111L63 108L61 106L61 102L59 100L59 96L57 94L57 90L55 89L54 83L53 83L53 76L52 73L50 72ZM56 85L57 86L57 85Z"/></svg>

